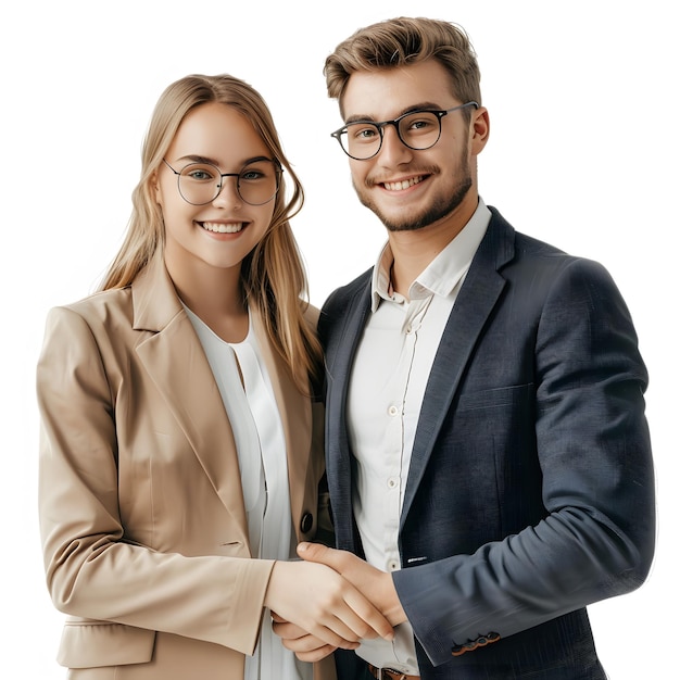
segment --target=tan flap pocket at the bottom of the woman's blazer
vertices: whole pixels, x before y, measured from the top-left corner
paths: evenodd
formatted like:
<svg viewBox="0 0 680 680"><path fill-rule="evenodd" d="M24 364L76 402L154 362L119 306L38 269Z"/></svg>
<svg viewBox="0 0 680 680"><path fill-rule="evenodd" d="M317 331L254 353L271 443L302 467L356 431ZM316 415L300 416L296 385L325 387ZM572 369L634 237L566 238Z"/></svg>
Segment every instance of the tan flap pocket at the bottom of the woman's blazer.
<svg viewBox="0 0 680 680"><path fill-rule="evenodd" d="M146 664L153 656L155 631L123 624L68 619L56 662L66 668Z"/></svg>

